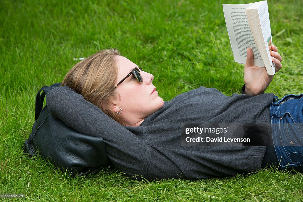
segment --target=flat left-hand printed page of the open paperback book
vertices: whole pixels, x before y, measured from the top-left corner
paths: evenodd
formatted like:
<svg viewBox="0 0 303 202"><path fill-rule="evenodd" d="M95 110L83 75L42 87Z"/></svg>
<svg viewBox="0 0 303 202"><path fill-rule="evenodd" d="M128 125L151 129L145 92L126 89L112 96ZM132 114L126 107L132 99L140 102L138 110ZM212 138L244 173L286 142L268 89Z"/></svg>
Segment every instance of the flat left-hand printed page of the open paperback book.
<svg viewBox="0 0 303 202"><path fill-rule="evenodd" d="M264 67L264 62L252 36L245 12L245 8L253 4L255 3L238 5L223 4L224 17L235 62L245 64L247 57L246 49L251 48L254 52L253 64Z"/></svg>

